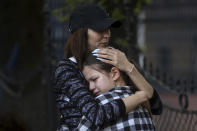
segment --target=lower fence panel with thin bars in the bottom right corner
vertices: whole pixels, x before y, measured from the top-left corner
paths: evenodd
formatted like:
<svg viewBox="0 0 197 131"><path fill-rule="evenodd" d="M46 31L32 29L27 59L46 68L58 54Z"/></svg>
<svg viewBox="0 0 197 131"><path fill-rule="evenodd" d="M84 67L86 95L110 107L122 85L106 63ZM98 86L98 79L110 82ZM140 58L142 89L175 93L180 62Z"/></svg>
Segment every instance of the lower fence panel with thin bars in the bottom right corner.
<svg viewBox="0 0 197 131"><path fill-rule="evenodd" d="M153 119L158 131L197 130L197 111L179 110L164 104L162 115Z"/></svg>

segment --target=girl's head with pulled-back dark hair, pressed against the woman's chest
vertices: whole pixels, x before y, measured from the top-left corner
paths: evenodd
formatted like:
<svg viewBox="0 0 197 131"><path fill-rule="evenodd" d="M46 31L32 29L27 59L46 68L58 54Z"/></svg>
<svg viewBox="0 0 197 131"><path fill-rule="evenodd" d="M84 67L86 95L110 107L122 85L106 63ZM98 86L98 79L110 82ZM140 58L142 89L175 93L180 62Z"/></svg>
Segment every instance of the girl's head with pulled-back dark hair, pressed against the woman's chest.
<svg viewBox="0 0 197 131"><path fill-rule="evenodd" d="M89 55L84 62L83 74L89 82L89 89L99 95L117 86L128 85L125 74L118 68ZM126 79L125 79L126 78Z"/></svg>

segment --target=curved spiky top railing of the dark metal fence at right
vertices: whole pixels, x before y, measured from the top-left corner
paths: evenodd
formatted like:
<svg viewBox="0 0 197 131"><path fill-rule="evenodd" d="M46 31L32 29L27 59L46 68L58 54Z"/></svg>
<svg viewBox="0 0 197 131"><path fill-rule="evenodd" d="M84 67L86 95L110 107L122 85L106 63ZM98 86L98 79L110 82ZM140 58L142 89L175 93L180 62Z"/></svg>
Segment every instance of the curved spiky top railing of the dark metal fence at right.
<svg viewBox="0 0 197 131"><path fill-rule="evenodd" d="M144 65L142 70L145 72L145 75L157 81L162 88L165 88L171 92L182 93L186 92L188 94L193 94L196 92L197 88L194 77L190 77L188 79L175 79L173 76L167 75L166 72L162 72L158 67L153 67L151 62L148 62L146 58L144 58Z"/></svg>

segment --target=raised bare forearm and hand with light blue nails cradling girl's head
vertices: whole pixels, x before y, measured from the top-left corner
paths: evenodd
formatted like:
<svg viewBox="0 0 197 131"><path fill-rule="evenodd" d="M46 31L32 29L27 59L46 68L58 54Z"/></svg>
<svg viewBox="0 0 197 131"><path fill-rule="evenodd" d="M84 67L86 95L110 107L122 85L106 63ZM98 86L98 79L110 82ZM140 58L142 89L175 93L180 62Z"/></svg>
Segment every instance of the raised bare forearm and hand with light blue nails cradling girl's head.
<svg viewBox="0 0 197 131"><path fill-rule="evenodd" d="M153 96L153 88L149 82L143 77L138 69L130 63L125 54L114 48L101 48L93 51L93 55L101 58L102 62L116 66L120 70L127 73L131 81L135 84L139 91L145 91L148 99Z"/></svg>

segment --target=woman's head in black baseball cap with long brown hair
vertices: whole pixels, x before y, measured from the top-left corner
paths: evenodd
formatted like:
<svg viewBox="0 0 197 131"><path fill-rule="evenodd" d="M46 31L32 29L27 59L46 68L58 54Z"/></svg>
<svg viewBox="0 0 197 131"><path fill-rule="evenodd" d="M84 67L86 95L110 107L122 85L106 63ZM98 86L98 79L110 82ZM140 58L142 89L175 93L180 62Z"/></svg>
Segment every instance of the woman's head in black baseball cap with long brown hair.
<svg viewBox="0 0 197 131"><path fill-rule="evenodd" d="M119 21L110 18L105 10L96 4L78 6L69 20L71 35L65 46L66 58L74 56L78 66L82 68L90 51L109 44L110 27L120 25Z"/></svg>

